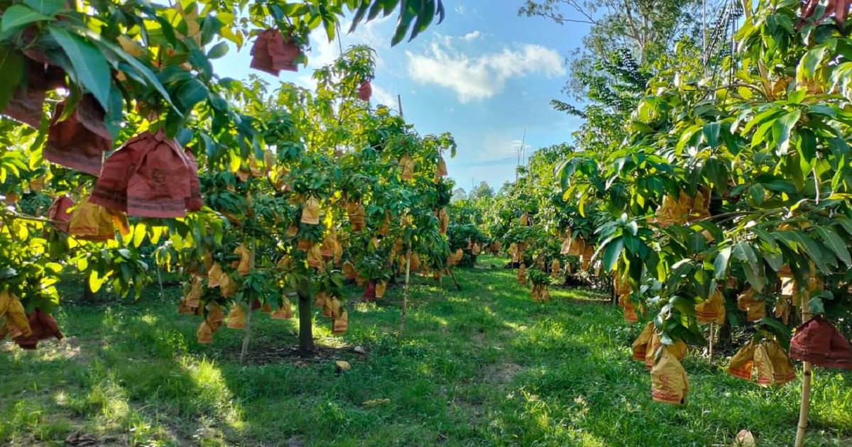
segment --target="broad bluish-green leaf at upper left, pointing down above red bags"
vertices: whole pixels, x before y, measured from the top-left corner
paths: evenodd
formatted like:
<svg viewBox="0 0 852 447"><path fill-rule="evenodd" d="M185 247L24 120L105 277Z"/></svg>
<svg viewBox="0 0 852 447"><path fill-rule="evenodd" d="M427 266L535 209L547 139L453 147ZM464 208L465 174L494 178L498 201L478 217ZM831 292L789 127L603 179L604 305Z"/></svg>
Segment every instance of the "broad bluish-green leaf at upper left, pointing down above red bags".
<svg viewBox="0 0 852 447"><path fill-rule="evenodd" d="M101 51L94 44L83 40L83 37L66 32L62 28L50 26L49 32L71 60L77 81L95 95L104 110L110 110L112 74Z"/></svg>

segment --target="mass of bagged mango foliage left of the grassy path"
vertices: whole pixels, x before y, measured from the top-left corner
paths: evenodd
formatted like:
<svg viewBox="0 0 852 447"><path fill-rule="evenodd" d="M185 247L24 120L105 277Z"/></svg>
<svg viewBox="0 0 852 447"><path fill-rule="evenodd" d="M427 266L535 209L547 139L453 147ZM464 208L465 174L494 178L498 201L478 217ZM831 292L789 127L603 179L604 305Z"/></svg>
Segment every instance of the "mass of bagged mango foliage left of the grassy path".
<svg viewBox="0 0 852 447"><path fill-rule="evenodd" d="M315 92L211 62L254 39L252 67L296 71L314 28L331 39L346 11L354 28L398 8L394 44L444 14L440 1L0 3L3 334L44 335L22 315L59 304L67 264L125 295L156 264L187 275L199 341L222 307L240 328L254 307L289 318L297 295L309 350L312 296L346 328L343 261L380 282L404 251L445 258L455 144L371 108L370 49L316 72Z"/></svg>

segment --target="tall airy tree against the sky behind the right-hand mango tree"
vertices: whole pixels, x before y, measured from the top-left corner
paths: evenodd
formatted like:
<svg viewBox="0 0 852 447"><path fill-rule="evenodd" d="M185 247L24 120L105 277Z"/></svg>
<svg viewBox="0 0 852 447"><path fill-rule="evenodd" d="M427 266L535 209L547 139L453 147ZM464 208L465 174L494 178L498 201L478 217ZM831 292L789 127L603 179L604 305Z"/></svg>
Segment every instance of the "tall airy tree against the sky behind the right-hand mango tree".
<svg viewBox="0 0 852 447"><path fill-rule="evenodd" d="M518 14L564 25L588 24L584 47L570 60L563 93L584 107L552 100L556 110L584 118L574 134L581 150L608 152L625 138L626 118L642 97L648 80L683 37L700 41L699 7L694 0L527 0ZM711 8L713 8L711 6Z"/></svg>

